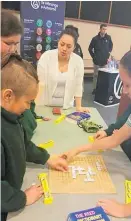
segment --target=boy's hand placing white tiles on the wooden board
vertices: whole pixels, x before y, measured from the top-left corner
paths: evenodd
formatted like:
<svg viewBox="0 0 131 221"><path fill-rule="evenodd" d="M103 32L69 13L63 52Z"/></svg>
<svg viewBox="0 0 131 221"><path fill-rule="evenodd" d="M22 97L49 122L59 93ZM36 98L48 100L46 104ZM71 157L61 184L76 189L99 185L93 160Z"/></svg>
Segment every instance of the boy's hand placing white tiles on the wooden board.
<svg viewBox="0 0 131 221"><path fill-rule="evenodd" d="M68 171L67 161L60 156L50 157L47 163L52 169L59 170L62 172Z"/></svg>

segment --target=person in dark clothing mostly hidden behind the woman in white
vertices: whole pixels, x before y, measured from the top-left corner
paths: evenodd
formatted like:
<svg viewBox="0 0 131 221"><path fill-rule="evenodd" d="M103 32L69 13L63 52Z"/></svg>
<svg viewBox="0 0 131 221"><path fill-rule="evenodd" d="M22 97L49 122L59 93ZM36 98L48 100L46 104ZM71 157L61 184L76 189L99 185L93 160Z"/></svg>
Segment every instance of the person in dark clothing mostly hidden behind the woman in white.
<svg viewBox="0 0 131 221"><path fill-rule="evenodd" d="M73 30L76 31L77 36L78 36L78 37L77 37L77 41L78 41L78 38L79 38L78 28L74 27L73 25L67 25L67 26L65 27L65 29L67 29L67 28L73 29ZM74 49L73 52L74 52L75 54L79 55L79 56L83 59L83 52L82 52L81 46L78 44L78 42L76 43L76 46L75 46L75 49Z"/></svg>

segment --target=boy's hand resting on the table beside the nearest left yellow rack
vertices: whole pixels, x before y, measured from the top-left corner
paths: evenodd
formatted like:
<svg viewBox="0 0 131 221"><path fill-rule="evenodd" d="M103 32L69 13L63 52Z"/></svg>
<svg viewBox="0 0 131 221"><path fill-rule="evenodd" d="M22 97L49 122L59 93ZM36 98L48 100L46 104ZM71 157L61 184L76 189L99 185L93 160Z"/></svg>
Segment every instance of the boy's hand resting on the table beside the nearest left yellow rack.
<svg viewBox="0 0 131 221"><path fill-rule="evenodd" d="M39 185L33 185L29 189L25 190L26 194L26 206L35 203L43 195L42 187Z"/></svg>

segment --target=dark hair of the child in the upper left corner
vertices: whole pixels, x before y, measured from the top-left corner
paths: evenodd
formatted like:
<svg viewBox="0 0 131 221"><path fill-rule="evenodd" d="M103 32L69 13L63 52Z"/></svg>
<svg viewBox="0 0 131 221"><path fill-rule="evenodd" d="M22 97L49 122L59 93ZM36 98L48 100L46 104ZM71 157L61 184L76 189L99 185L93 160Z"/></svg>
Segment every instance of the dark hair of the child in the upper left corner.
<svg viewBox="0 0 131 221"><path fill-rule="evenodd" d="M1 36L22 35L23 24L12 10L2 9L1 11Z"/></svg>

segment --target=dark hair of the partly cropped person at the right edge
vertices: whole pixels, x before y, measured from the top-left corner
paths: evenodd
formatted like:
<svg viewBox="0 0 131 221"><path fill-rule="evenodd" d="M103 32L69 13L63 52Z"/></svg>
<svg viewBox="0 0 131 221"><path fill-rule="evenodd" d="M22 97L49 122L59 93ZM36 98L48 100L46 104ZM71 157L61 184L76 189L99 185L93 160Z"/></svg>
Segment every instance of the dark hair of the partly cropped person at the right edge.
<svg viewBox="0 0 131 221"><path fill-rule="evenodd" d="M131 50L128 51L120 60L120 64L127 70L131 77Z"/></svg>

